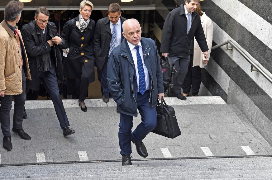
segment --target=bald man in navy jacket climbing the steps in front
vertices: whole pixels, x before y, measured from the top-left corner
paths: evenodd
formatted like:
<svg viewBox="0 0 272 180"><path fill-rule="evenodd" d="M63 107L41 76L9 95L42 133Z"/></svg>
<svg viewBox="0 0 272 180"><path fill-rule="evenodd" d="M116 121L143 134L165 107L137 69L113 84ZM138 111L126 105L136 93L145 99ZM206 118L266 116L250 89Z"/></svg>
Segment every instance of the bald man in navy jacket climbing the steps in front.
<svg viewBox="0 0 272 180"><path fill-rule="evenodd" d="M122 34L126 39L109 56L107 82L120 111L118 136L122 165L131 165L131 141L140 156L148 155L142 140L157 125L157 98L164 97L164 88L155 42L141 38L141 26L136 19L124 21ZM142 122L131 134L137 109Z"/></svg>

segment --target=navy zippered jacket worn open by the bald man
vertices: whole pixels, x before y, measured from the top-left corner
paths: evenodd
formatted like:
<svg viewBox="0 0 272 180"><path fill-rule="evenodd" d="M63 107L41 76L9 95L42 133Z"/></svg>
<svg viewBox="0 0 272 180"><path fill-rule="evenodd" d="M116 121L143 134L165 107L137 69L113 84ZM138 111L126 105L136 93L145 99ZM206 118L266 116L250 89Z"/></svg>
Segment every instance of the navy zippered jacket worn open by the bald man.
<svg viewBox="0 0 272 180"><path fill-rule="evenodd" d="M160 58L154 40L141 37L143 58L150 77L149 102L151 108L157 105L158 93L163 93ZM120 112L137 117L137 82L133 59L124 39L109 56L107 82L112 98Z"/></svg>

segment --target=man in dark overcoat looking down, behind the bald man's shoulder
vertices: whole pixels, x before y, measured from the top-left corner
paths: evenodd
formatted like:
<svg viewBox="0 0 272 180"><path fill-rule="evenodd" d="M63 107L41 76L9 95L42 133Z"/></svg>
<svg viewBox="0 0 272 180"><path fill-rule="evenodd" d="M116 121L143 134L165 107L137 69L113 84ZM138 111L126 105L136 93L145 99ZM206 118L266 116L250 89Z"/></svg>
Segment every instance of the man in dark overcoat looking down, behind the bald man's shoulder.
<svg viewBox="0 0 272 180"><path fill-rule="evenodd" d="M103 89L103 101L109 102L109 88L107 85L107 62L111 43L114 41L112 32L114 26L116 27L116 39L113 48L121 44L124 37L122 36L122 24L126 21L126 18L121 17L121 7L118 3L112 3L108 7L108 17L104 17L97 21L95 34L94 34L94 54L95 64L98 68L98 74L102 73L98 80L101 83Z"/></svg>

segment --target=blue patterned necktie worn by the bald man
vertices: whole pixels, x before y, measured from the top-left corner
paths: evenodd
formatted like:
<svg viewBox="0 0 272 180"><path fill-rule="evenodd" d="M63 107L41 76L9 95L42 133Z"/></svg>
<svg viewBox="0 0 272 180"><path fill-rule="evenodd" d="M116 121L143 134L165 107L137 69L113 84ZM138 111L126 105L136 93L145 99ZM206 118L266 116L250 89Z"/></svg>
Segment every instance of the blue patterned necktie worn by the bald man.
<svg viewBox="0 0 272 180"><path fill-rule="evenodd" d="M144 95L146 92L146 78L145 78L145 71L144 66L142 63L141 55L139 53L139 46L135 47L137 53L137 64L138 64L138 74L139 74L139 92Z"/></svg>

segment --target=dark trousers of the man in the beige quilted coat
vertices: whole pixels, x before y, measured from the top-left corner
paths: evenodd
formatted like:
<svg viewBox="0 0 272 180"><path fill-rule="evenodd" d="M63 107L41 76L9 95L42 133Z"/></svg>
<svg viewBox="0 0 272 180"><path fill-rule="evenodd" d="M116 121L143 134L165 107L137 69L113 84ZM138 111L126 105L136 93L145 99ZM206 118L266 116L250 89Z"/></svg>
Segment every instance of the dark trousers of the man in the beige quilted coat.
<svg viewBox="0 0 272 180"><path fill-rule="evenodd" d="M4 136L10 136L10 110L12 105L12 96L14 97L14 114L12 126L16 129L22 129L23 113L26 101L26 76L22 68L22 88L23 92L18 95L5 95L0 101L0 122Z"/></svg>

